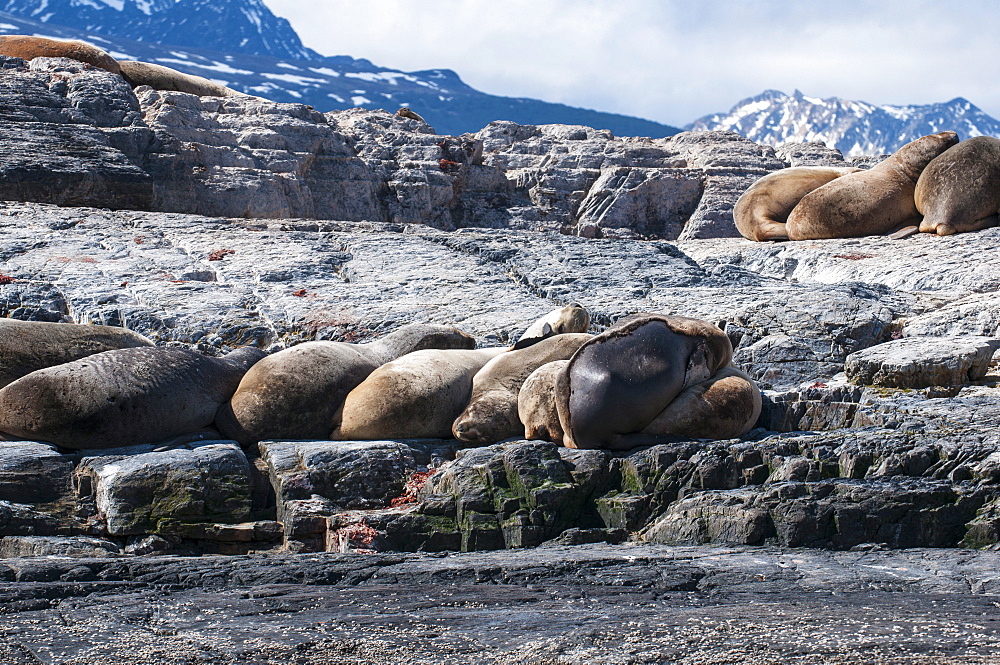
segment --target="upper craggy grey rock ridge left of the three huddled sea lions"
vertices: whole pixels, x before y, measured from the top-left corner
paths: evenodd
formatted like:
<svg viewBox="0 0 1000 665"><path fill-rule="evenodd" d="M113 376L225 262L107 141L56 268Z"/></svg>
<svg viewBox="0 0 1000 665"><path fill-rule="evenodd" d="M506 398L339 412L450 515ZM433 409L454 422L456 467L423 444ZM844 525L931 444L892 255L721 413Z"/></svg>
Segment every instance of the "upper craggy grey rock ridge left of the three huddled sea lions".
<svg viewBox="0 0 1000 665"><path fill-rule="evenodd" d="M52 58L3 59L0 107L3 198L220 217L727 237L739 194L801 161L727 132L641 139L494 122L439 136L381 111L133 93Z"/></svg>

